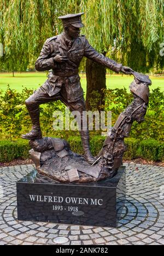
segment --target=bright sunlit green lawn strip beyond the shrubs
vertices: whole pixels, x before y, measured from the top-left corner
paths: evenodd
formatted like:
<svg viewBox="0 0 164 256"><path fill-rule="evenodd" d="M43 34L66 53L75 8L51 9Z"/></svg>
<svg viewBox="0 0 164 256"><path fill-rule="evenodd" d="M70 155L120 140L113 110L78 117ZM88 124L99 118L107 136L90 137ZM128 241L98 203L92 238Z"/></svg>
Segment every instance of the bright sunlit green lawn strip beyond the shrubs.
<svg viewBox="0 0 164 256"><path fill-rule="evenodd" d="M81 76L81 85L84 92L86 92L86 76ZM107 88L128 88L133 80L133 76L127 75L107 75ZM160 87L161 91L164 91L164 76L155 77L150 76L152 80L152 85L150 90ZM10 85L10 88L16 89L17 91L22 91L22 86L27 88L36 89L44 83L46 80L45 72L36 72L36 73L15 73L13 77L11 73L0 73L0 89L5 91L7 85Z"/></svg>

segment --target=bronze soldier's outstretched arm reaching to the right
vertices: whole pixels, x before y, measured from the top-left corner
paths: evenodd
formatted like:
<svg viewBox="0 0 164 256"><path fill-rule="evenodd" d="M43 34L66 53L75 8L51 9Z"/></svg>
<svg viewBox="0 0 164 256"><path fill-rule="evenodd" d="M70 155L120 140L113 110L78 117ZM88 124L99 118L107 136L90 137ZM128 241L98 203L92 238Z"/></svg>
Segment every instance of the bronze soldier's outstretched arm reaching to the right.
<svg viewBox="0 0 164 256"><path fill-rule="evenodd" d="M92 59L93 61L99 64L106 66L107 68L115 71L116 73L119 73L119 71L121 71L124 74L131 74L131 71L133 71L128 66L122 66L122 64L119 64L114 60L105 57L103 54L98 53L86 39L84 47L84 56L89 59Z"/></svg>

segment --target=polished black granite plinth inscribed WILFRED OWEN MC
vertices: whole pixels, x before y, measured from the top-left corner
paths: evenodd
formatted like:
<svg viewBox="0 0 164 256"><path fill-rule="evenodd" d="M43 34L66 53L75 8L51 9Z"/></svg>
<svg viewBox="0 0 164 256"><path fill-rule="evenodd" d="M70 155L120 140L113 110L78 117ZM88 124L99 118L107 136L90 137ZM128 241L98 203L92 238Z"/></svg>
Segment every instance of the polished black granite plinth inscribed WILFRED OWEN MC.
<svg viewBox="0 0 164 256"><path fill-rule="evenodd" d="M125 203L125 167L112 179L57 183L36 170L16 183L17 219L116 227Z"/></svg>

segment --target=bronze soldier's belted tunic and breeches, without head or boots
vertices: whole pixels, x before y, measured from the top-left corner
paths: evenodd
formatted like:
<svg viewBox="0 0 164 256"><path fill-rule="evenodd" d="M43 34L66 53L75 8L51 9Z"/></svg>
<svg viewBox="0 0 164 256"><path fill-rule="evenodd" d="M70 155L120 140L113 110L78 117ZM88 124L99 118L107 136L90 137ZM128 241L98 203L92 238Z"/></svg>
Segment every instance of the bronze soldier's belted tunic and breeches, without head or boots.
<svg viewBox="0 0 164 256"><path fill-rule="evenodd" d="M67 56L68 60L65 63L54 62L53 57L57 54ZM28 110L37 109L39 104L60 99L70 107L70 110L79 110L82 114L85 110L85 101L78 68L84 56L116 73L122 66L93 49L85 36L75 38L71 49L67 48L63 34L48 38L35 67L38 71L52 69L52 72L48 80L26 100Z"/></svg>

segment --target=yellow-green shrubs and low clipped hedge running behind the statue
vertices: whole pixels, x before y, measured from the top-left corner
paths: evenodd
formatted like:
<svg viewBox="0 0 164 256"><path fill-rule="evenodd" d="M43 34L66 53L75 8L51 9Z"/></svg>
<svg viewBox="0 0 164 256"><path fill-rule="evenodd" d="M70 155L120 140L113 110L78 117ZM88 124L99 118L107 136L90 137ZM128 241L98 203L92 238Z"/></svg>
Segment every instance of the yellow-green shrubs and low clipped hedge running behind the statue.
<svg viewBox="0 0 164 256"><path fill-rule="evenodd" d="M9 87L5 93L0 93L1 138L10 139L10 141L17 140L21 133L30 130L31 120L24 102L31 94L32 90L27 88L18 93ZM131 99L131 93L127 93L125 88L107 90L104 107L106 110L112 110L113 123L115 123L120 112L130 104ZM52 129L54 121L52 113L55 110L60 110L65 116L65 106L59 101L47 103L40 107L43 135L65 138L70 143L72 151L83 154L81 139L74 136L74 131L54 131ZM149 108L147 115L145 115L145 121L139 125L134 122L131 130L132 138L125 139L127 151L124 154L124 159L133 159L137 156L154 161L164 159L164 143L159 142L163 141L164 138L163 119L163 93L159 88L156 88L150 93ZM93 155L98 154L104 141L104 137L98 135L99 132L90 132L92 137L90 146ZM29 149L29 146L28 141L25 140L1 141L0 148L1 162L8 162L17 157L27 158L28 156L27 149Z"/></svg>

